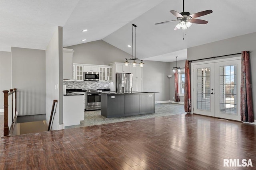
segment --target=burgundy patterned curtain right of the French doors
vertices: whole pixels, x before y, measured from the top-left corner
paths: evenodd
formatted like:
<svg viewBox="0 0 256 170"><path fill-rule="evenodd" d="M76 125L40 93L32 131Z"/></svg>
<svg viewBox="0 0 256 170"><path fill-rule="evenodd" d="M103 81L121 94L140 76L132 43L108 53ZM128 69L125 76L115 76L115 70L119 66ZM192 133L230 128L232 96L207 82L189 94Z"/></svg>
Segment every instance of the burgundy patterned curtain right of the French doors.
<svg viewBox="0 0 256 170"><path fill-rule="evenodd" d="M250 74L250 51L242 51L241 61L241 121L254 122Z"/></svg>

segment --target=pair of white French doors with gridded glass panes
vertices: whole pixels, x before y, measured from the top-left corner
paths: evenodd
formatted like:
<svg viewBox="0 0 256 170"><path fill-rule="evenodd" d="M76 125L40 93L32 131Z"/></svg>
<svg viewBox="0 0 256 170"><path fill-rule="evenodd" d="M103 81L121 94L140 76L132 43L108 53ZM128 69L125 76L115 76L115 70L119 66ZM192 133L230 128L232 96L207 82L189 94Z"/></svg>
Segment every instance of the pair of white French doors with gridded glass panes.
<svg viewBox="0 0 256 170"><path fill-rule="evenodd" d="M241 60L193 64L193 113L240 121Z"/></svg>

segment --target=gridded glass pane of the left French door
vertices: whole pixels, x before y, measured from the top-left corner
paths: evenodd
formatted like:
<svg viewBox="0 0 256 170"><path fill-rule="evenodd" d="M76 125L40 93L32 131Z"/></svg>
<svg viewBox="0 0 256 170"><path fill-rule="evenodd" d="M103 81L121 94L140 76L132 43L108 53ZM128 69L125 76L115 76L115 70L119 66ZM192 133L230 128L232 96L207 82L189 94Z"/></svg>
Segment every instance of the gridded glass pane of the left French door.
<svg viewBox="0 0 256 170"><path fill-rule="evenodd" d="M197 109L210 111L210 68L197 69Z"/></svg>

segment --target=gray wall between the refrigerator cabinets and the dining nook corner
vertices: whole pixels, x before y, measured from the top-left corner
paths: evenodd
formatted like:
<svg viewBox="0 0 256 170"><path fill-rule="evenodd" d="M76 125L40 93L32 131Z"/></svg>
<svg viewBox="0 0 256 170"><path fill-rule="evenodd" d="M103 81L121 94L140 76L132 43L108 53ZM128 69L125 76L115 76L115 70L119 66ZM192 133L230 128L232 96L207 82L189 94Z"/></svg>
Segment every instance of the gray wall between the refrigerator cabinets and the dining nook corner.
<svg viewBox="0 0 256 170"><path fill-rule="evenodd" d="M143 91L159 92L155 101L170 100L169 68L170 64L160 61L143 61Z"/></svg>

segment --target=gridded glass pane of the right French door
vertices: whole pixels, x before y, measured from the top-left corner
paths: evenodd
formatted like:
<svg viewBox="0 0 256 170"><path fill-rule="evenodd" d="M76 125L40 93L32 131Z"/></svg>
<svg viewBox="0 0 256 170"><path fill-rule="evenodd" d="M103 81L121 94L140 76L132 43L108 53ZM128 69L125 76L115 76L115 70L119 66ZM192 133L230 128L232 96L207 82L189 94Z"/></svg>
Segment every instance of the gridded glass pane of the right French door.
<svg viewBox="0 0 256 170"><path fill-rule="evenodd" d="M237 114L236 65L220 66L220 112Z"/></svg>

